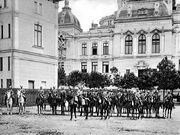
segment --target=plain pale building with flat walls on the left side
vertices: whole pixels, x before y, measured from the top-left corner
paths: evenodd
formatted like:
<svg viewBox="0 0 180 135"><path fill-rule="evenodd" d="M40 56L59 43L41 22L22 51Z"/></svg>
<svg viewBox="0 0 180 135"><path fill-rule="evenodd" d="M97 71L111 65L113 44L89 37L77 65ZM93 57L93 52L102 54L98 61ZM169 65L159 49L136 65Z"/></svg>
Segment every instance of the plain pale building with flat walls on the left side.
<svg viewBox="0 0 180 135"><path fill-rule="evenodd" d="M0 1L0 88L57 86L58 2Z"/></svg>

